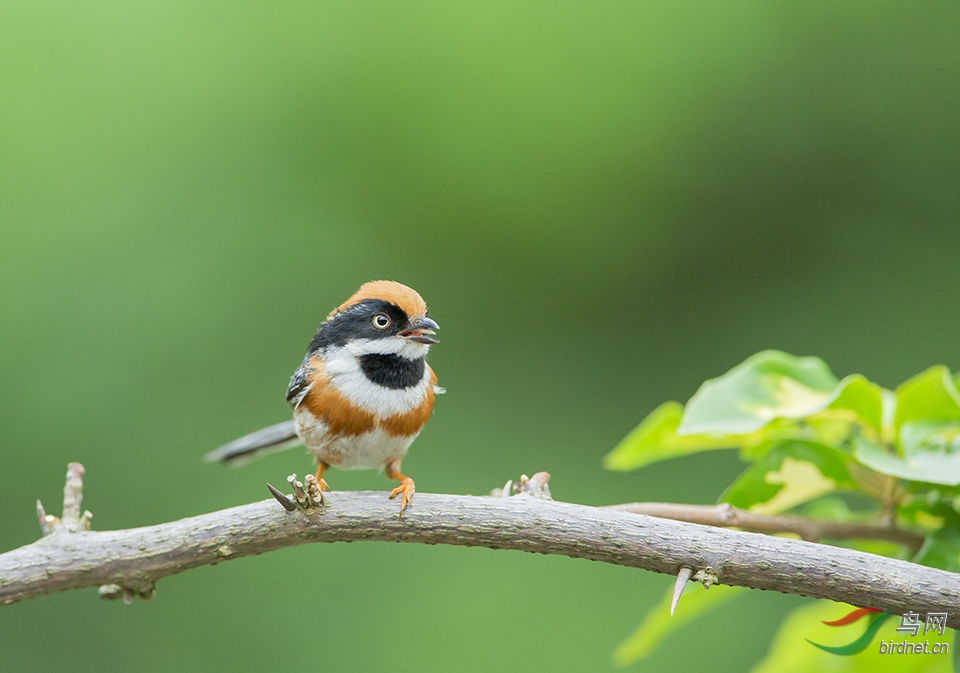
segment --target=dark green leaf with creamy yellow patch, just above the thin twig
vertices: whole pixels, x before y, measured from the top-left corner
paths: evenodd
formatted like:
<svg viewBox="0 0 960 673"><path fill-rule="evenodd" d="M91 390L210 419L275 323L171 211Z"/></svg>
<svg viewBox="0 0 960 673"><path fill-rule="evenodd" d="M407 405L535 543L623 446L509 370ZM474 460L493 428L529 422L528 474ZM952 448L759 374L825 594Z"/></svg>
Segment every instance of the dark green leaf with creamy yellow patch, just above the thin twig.
<svg viewBox="0 0 960 673"><path fill-rule="evenodd" d="M856 489L842 454L816 442L778 442L720 497L763 514L783 512L839 489Z"/></svg>

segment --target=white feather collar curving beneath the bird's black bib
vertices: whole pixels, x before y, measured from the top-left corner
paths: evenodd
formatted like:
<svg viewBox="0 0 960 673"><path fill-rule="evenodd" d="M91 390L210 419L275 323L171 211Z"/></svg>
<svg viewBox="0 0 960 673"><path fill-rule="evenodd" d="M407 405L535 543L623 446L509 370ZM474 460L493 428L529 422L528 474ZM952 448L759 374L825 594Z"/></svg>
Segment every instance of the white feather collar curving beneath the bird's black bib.
<svg viewBox="0 0 960 673"><path fill-rule="evenodd" d="M356 355L348 348L327 349L323 361L330 383L337 392L352 404L380 418L403 414L419 406L430 385L430 369L427 367L423 368L423 377L415 386L397 390L377 385L366 377Z"/></svg>

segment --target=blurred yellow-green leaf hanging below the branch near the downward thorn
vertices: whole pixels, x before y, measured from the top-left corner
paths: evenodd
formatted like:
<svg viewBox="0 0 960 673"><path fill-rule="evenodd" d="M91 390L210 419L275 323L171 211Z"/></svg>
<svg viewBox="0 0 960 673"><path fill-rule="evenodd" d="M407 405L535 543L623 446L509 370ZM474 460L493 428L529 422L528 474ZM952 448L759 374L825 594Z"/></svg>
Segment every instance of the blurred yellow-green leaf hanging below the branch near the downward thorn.
<svg viewBox="0 0 960 673"><path fill-rule="evenodd" d="M690 582L677 605L676 613L671 615L670 602L673 597L671 585L663 600L647 613L636 631L617 645L617 649L613 652L613 662L618 666L626 666L649 657L667 636L679 631L700 615L731 601L744 591L742 587L722 584L714 585L707 590L702 584Z"/></svg>

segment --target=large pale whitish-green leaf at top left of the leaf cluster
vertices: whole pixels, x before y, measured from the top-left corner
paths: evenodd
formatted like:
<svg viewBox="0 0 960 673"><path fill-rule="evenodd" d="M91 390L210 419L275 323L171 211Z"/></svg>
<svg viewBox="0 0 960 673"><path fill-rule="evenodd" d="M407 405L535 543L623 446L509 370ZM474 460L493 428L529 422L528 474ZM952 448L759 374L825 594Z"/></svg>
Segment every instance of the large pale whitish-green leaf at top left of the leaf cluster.
<svg viewBox="0 0 960 673"><path fill-rule="evenodd" d="M741 435L775 418L803 418L823 409L837 384L819 358L762 351L700 386L677 434Z"/></svg>

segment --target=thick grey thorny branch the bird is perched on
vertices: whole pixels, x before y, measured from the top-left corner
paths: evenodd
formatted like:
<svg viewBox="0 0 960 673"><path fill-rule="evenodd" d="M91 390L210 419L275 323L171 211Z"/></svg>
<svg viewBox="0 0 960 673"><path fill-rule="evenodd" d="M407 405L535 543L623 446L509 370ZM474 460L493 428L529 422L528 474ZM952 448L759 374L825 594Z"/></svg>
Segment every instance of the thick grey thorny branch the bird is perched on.
<svg viewBox="0 0 960 673"><path fill-rule="evenodd" d="M68 504L72 518L79 501ZM347 491L327 494L312 514L288 512L271 499L119 531L46 519L49 535L0 554L0 604L89 586L108 597L149 597L157 580L202 565L308 542L385 540L561 554L671 575L690 568L723 584L897 613L946 612L948 624L960 627L960 574L526 492L501 498L418 493L402 519L384 493Z"/></svg>

